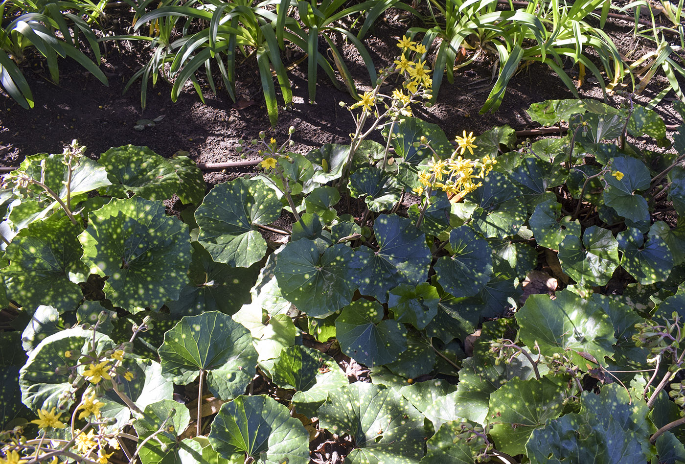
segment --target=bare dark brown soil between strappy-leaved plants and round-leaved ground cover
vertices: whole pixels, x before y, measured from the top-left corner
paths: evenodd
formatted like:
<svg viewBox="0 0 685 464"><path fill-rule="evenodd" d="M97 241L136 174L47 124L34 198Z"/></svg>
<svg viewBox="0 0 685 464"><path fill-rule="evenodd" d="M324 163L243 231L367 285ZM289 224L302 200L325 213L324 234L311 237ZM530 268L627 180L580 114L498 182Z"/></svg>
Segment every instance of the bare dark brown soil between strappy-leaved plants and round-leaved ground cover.
<svg viewBox="0 0 685 464"><path fill-rule="evenodd" d="M129 21L130 14L125 9L120 10L110 16L120 14L123 24ZM392 62L397 52L395 42L410 26L394 20L395 13L391 11L387 19L379 21L373 34L368 34L365 41L378 68ZM116 30L114 25L114 32L126 33L123 27L119 29ZM626 21L610 19L605 30L623 53L634 52L641 47L632 37L632 25ZM343 47L343 50L356 76L358 88L368 90L368 75L353 47ZM238 139L249 141L262 130L267 136L283 141L287 138L288 127L295 126L293 151L300 153L325 143L346 143L354 130L349 112L338 105L339 101L352 103L353 99L347 92L334 87L323 72L319 73L316 103L308 103L306 60L301 60L303 53L299 49L286 54L286 58L289 57L286 65L301 60L290 72L295 104L290 110L279 108L275 130L271 129L264 108L256 64L250 60L237 70L238 103L229 99L225 90L213 95L208 86L205 86L206 103L202 103L189 84L174 103L170 98L171 86L160 79L155 88L149 89L147 108L142 110L140 82L136 82L127 93L122 92L125 83L148 56L145 45L108 42L101 69L108 76L109 86L103 86L69 60L60 64L62 77L59 84L49 82L47 70L40 65L25 69L36 107L24 110L0 92L0 164L16 165L25 156L36 153L60 153L63 145L73 138L87 145L88 154L94 157L110 147L130 143L147 145L162 156L184 150L197 162L224 162L240 160L235 149ZM571 65L569 60L566 66ZM573 71L569 69L568 72L573 75ZM638 101L649 101L663 88L664 82L655 79ZM457 71L453 84L445 80L438 103L432 108L415 105L414 115L440 125L449 137L461 134L462 130L479 134L494 125L503 124L522 130L536 127L525 112L531 103L573 96L547 66L534 63L523 66L512 78L506 97L495 114L478 114L493 83L493 62L484 58ZM593 84L592 79L586 80L579 91L583 97L602 97L599 86L596 81ZM609 97L612 104L617 105L621 100L616 95ZM657 109L667 124L680 123L677 117L673 117L669 101L663 101ZM154 119L162 115L164 119L154 127L134 130L138 119ZM379 135L375 136L377 140L380 140ZM242 169L242 172L249 169ZM235 175L231 172L208 172L206 181L212 185Z"/></svg>

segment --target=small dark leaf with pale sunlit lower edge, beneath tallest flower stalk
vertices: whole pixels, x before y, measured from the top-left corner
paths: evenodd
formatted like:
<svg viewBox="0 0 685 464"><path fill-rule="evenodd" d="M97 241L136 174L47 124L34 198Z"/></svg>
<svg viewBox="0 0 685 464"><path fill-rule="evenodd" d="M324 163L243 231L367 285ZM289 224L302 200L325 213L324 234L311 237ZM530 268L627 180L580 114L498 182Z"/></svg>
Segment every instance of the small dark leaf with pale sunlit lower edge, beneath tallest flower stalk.
<svg viewBox="0 0 685 464"><path fill-rule="evenodd" d="M373 167L359 169L350 175L349 191L355 198L363 197L373 212L390 210L399 202L402 193L394 175Z"/></svg>

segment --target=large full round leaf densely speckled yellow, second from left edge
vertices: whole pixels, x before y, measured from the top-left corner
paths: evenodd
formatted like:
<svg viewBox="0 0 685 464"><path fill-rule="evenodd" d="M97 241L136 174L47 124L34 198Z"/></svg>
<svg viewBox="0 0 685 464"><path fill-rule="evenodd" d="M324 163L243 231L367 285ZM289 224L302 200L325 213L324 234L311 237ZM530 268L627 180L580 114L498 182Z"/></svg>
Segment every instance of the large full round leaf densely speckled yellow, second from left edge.
<svg viewBox="0 0 685 464"><path fill-rule="evenodd" d="M107 276L114 306L157 309L176 300L190 262L188 226L169 217L162 202L113 199L90 213L79 235L90 273Z"/></svg>

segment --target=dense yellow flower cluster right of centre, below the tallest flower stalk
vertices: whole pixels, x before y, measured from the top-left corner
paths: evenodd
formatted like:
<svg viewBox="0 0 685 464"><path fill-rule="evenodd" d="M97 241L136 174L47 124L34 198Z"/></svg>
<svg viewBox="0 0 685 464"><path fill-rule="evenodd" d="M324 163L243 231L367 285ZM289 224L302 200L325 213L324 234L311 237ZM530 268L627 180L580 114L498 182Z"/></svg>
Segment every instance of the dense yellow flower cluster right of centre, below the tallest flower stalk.
<svg viewBox="0 0 685 464"><path fill-rule="evenodd" d="M428 165L427 171L419 172L421 186L414 188L414 192L422 195L427 187L440 188L447 192L450 198L461 198L466 193L471 193L482 186L483 182L478 180L485 178L492 171L497 160L490 156L475 160L462 158L461 155L466 149L473 154L473 148L476 147L473 141L475 141L473 132L466 136L466 131L464 131L463 137L457 137L458 147L449 160L435 160Z"/></svg>

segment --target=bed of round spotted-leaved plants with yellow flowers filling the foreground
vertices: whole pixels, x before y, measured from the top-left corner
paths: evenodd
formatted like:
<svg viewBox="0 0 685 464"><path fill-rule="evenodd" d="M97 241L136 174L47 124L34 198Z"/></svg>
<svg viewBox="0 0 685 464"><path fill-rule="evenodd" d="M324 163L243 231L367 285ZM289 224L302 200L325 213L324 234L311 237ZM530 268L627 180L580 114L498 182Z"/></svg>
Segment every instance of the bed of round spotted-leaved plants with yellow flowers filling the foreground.
<svg viewBox="0 0 685 464"><path fill-rule="evenodd" d="M627 95L446 132L391 45L350 139L257 133L209 191L130 144L6 176L1 459L685 459L682 125Z"/></svg>

